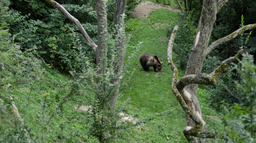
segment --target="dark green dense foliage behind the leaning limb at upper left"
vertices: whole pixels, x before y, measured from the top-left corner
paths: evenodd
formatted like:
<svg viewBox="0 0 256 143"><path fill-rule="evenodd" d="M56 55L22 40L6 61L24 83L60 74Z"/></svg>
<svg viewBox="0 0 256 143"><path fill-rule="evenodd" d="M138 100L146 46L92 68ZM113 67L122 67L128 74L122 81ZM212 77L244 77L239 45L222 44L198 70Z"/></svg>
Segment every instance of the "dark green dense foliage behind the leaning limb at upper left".
<svg viewBox="0 0 256 143"><path fill-rule="evenodd" d="M59 0L67 11L76 17L93 41L97 44L97 16L95 1ZM126 14L138 4L127 1ZM108 30L112 33L115 0L107 3ZM37 47L37 53L60 71L82 70L84 58L95 62L92 48L80 34L78 28L44 0L11 0L12 20L8 21L10 33L23 49ZM25 42L26 41L26 42Z"/></svg>

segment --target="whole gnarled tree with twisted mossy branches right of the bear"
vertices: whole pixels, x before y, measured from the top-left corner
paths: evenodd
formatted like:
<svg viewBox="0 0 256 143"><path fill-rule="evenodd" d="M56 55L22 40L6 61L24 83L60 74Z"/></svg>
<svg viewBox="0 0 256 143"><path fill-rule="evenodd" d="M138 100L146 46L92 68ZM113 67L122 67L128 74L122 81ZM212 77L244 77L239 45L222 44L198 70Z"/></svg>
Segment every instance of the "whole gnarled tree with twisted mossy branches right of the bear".
<svg viewBox="0 0 256 143"><path fill-rule="evenodd" d="M256 24L243 26L230 35L209 44L212 27L216 20L216 14L227 1L228 0L219 0L218 2L216 0L203 1L197 33L187 62L186 73L179 81L177 80L178 69L172 61L172 45L177 33L177 26L174 27L169 39L167 53L168 65L173 71L172 91L185 111L187 127L183 131L184 136L188 141L194 141L195 143L199 142L198 137L212 138L213 136L216 136L203 129L206 123L197 99L197 84L216 85L220 76L223 73L228 72L231 63L238 63L236 58L241 59L241 54L246 52L246 50L241 49L234 57L225 59L221 62L220 66L210 74L201 73L205 57L218 45L241 35L241 33L246 30L256 28Z"/></svg>

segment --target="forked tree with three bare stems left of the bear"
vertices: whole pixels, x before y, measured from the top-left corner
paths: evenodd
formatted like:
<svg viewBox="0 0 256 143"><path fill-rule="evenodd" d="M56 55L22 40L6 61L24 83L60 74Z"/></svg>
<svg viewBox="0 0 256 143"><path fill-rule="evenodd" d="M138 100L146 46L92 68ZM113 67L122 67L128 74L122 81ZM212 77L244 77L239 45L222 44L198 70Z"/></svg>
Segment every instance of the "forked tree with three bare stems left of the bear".
<svg viewBox="0 0 256 143"><path fill-rule="evenodd" d="M79 31L82 33L84 38L87 40L90 47L92 47L95 57L96 64L98 67L101 67L101 60L105 60L107 57L107 40L108 40L108 31L107 31L107 13L106 13L106 1L105 0L96 0L96 13L97 13L97 28L98 28L98 45L96 45L87 32L82 27L79 20L69 14L69 12L58 2L54 0L45 0L52 6L56 7L63 15L65 15L71 22L77 25ZM117 61L113 61L115 67L115 74L120 74L123 71L123 60L125 57L126 50L126 37L124 30L124 22L122 22L121 15L125 12L126 0L116 0L115 1L115 13L114 13L114 24L115 24L115 56ZM103 69L97 71L98 74L102 74ZM113 79L112 82L120 84L120 79ZM110 109L115 108L115 104L119 94L119 86L116 87L114 95L110 97ZM97 94L95 94L95 100L97 100Z"/></svg>

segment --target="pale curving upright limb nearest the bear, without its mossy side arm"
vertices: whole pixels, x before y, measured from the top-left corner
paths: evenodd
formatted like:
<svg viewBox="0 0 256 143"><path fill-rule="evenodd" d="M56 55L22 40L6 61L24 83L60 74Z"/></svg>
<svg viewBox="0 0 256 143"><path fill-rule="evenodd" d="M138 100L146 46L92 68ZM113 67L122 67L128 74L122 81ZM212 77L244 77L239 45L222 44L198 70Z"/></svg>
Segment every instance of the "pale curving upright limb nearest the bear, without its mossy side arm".
<svg viewBox="0 0 256 143"><path fill-rule="evenodd" d="M179 101L179 104L182 106L183 110L190 116L190 118L192 118L196 124L202 126L202 122L200 121L200 119L197 116L195 116L193 111L191 111L189 109L189 106L187 106L186 102L184 101L184 99L182 98L180 92L178 91L178 89L176 87L177 79L178 79L178 69L172 61L172 46L174 43L174 38L177 34L177 30L178 30L178 26L176 25L172 31L172 35L169 39L169 44L168 44L168 49L167 49L168 65L173 71L172 72L172 92L176 96L176 98Z"/></svg>

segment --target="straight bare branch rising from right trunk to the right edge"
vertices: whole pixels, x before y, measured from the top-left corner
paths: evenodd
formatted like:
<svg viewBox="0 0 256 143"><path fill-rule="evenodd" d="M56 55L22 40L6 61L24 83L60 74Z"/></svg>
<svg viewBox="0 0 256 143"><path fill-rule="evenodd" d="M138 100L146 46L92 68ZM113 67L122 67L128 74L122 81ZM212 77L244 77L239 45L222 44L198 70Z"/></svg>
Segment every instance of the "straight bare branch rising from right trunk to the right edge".
<svg viewBox="0 0 256 143"><path fill-rule="evenodd" d="M207 47L207 54L209 54L213 49L215 49L215 47L217 47L220 44L223 44L224 42L227 42L235 37L237 37L238 35L241 35L241 33L245 32L246 30L251 30L256 28L256 23L255 24L251 24L251 25L246 25L243 26L241 28L239 28L238 30L236 30L235 32L231 33L230 35L220 38L218 40L216 40L215 42L212 42L210 44L209 47Z"/></svg>

